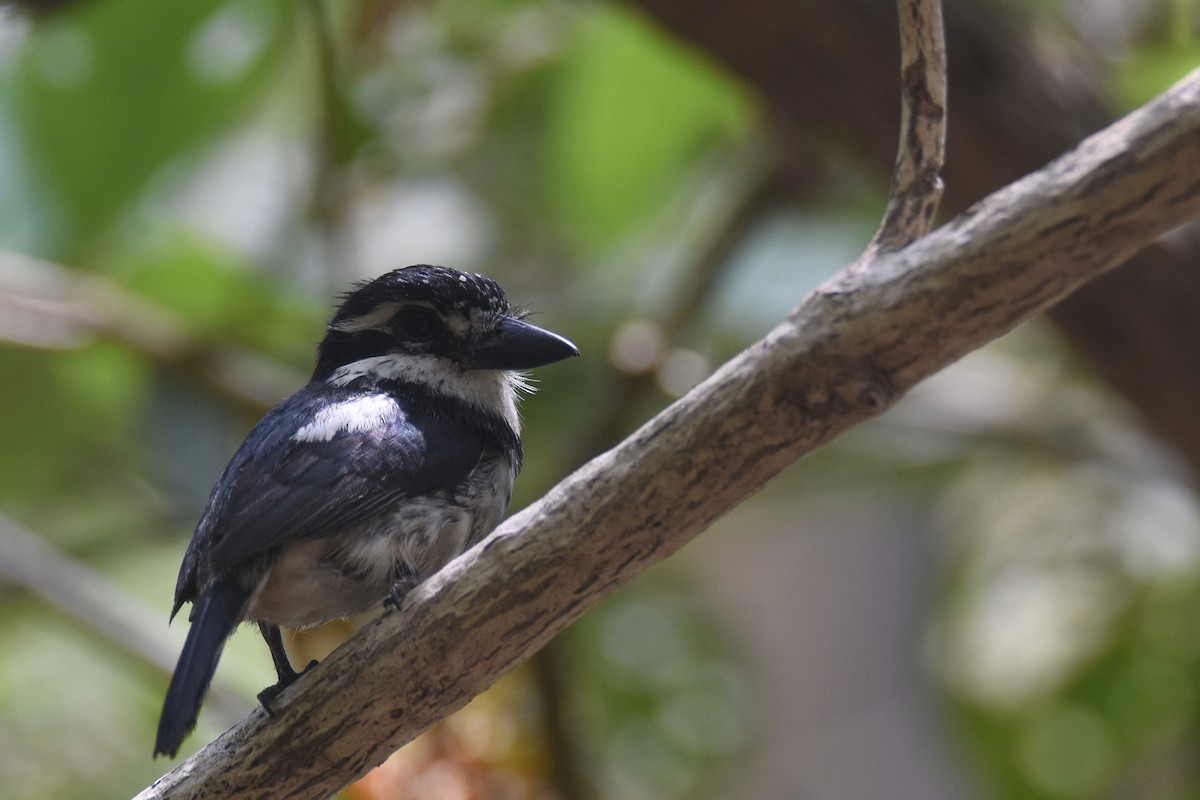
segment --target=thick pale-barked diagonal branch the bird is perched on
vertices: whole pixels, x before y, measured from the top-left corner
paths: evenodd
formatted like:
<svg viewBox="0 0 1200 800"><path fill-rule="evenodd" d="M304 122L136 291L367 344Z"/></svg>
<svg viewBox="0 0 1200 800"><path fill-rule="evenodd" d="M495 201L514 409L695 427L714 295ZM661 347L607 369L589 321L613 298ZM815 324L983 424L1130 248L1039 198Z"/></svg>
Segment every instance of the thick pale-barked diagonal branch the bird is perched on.
<svg viewBox="0 0 1200 800"><path fill-rule="evenodd" d="M869 269L569 476L139 798L324 798L797 458L1200 215L1200 71Z"/></svg>

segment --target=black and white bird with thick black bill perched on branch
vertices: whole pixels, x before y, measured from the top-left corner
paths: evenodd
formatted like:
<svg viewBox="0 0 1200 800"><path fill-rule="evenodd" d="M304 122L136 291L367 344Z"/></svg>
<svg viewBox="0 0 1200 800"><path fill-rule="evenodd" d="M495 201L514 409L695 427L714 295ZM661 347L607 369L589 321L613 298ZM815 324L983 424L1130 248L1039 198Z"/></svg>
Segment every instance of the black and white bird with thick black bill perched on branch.
<svg viewBox="0 0 1200 800"><path fill-rule="evenodd" d="M302 390L234 455L184 555L172 619L192 603L155 754L196 726L226 639L257 622L278 684L280 626L380 607L482 539L521 469L521 372L578 350L494 281L409 266L346 294ZM264 697L264 696L260 696Z"/></svg>

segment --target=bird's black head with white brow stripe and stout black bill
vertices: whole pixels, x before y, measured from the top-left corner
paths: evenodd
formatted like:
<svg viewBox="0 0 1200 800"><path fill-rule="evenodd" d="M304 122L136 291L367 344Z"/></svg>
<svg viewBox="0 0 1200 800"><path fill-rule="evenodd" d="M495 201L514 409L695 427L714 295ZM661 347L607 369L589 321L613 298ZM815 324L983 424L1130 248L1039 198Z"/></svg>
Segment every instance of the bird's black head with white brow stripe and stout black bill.
<svg viewBox="0 0 1200 800"><path fill-rule="evenodd" d="M436 383L454 373L533 369L572 355L530 325L482 275L408 266L353 287L318 348L313 380L376 377Z"/></svg>

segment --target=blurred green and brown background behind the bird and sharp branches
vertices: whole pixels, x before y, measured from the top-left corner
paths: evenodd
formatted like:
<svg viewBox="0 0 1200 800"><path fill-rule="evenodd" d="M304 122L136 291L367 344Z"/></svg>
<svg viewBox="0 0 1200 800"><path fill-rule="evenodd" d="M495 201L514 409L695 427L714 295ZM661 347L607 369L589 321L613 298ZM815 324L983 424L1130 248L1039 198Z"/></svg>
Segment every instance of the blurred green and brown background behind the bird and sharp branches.
<svg viewBox="0 0 1200 800"><path fill-rule="evenodd" d="M946 215L1200 64L1195 0L947 5ZM850 263L895 148L890 0L0 13L14 800L169 766L184 547L349 282L482 271L580 344L516 509ZM1198 241L797 464L344 795L1200 796ZM185 754L272 681L240 632Z"/></svg>

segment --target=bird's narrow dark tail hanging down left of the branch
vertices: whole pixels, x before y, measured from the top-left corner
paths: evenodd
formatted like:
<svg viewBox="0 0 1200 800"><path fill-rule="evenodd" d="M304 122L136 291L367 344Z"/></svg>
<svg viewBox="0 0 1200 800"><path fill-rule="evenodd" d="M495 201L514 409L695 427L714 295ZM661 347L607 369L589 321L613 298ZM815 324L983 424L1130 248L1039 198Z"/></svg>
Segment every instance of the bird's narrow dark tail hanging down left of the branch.
<svg viewBox="0 0 1200 800"><path fill-rule="evenodd" d="M238 627L250 593L233 579L224 579L200 595L192 609L192 627L170 676L167 699L158 717L154 754L175 757L184 738L196 727L200 704L212 682L226 639Z"/></svg>

